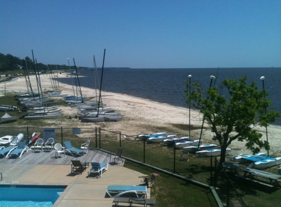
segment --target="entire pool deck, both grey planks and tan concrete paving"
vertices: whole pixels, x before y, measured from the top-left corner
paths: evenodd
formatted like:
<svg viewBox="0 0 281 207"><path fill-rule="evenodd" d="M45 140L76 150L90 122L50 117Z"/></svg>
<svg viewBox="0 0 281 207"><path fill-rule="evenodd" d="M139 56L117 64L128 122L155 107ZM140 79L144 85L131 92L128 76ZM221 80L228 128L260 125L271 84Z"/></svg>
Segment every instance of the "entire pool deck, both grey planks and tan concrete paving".
<svg viewBox="0 0 281 207"><path fill-rule="evenodd" d="M110 159L110 154L97 149L90 150L90 153L78 157L62 155L60 158L55 158L53 155L54 151L40 153L30 151L17 159L1 156L2 181L0 184L67 185L53 207L114 207L112 203L114 198L110 198L106 194L107 186L140 185L139 176L144 176L144 174L123 167L124 162L121 160L114 163L112 158ZM71 173L71 160L73 159L81 162L84 160L108 162L108 170L102 173L102 177L96 177L97 174L88 177L90 167L82 174ZM150 188L148 188L147 197L150 198ZM118 205L118 207L128 206L126 204Z"/></svg>

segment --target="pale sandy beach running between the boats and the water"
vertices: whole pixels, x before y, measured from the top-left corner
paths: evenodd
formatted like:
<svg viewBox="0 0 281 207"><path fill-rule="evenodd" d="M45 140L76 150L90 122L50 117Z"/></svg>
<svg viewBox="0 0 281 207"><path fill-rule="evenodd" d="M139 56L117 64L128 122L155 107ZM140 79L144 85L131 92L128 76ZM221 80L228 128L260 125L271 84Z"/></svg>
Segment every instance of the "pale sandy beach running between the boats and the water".
<svg viewBox="0 0 281 207"><path fill-rule="evenodd" d="M60 77L69 76L66 73L60 74ZM36 85L36 77L30 76L31 85ZM42 90L51 90L51 81L48 75L40 75ZM73 95L71 85L59 83L62 92ZM0 84L0 91L4 94L4 84ZM24 93L26 92L26 79L24 77L15 78L13 81L6 82L6 93ZM93 89L81 87L82 95L87 96L88 100L96 100L96 92ZM55 99L62 99L57 97ZM121 132L126 135L136 135L141 133L155 133L165 131L167 133L177 133L178 136L189 135L189 109L184 107L176 107L165 103L157 103L146 99L141 99L126 94L117 94L110 92L102 92L102 102L105 106L110 106L118 110L124 117L120 122L103 122L103 123L81 123L80 120L74 118L78 114L77 108L70 106L60 106L62 108L65 121L56 119L44 120L53 124L54 127L101 127L111 131ZM69 119L72 116L72 119ZM202 125L202 115L197 110L191 110L191 138L199 139ZM43 122L43 121L42 121ZM207 128L207 125L204 125ZM42 126L43 127L43 126ZM266 140L266 129L256 128L263 133L263 140ZM268 141L271 144L270 155L281 156L281 127L268 127ZM202 138L204 144L218 144L212 141L212 132L204 129ZM133 139L133 138L132 138ZM247 150L244 142L234 141L230 148L240 149L240 154L252 154ZM266 152L264 149L261 152Z"/></svg>

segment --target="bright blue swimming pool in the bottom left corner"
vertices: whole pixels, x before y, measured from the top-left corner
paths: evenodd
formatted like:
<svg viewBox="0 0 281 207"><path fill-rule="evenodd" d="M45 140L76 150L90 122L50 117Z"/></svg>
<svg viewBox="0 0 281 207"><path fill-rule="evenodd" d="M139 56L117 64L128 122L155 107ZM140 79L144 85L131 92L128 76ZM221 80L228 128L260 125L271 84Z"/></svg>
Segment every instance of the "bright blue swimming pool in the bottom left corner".
<svg viewBox="0 0 281 207"><path fill-rule="evenodd" d="M67 185L0 185L1 207L51 207Z"/></svg>

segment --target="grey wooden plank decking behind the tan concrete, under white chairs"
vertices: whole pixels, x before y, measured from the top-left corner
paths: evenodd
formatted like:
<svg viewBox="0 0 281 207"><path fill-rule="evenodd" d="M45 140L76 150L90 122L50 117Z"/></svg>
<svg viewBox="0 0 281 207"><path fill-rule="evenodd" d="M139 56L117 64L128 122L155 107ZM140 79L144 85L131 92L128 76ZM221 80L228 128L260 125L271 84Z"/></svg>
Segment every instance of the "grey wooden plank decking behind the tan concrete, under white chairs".
<svg viewBox="0 0 281 207"><path fill-rule="evenodd" d="M55 150L46 150L41 152L37 150L30 150L28 153L22 155L21 158L5 158L1 155L0 163L5 164L50 164L50 165L70 165L71 160L80 160L81 162L107 162L110 165L120 165L123 166L124 162L121 160L116 160L114 163L114 155L103 152L99 149L90 149L89 153L84 155L77 155L77 157L72 156L69 153L62 154L58 158L55 157ZM123 159L124 160L124 159Z"/></svg>

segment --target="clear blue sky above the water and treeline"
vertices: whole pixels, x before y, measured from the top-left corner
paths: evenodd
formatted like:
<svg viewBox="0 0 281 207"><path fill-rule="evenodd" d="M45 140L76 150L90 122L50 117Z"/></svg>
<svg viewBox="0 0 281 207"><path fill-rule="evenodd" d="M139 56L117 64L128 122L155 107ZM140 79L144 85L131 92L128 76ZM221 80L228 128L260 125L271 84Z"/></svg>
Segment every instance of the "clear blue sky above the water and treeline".
<svg viewBox="0 0 281 207"><path fill-rule="evenodd" d="M281 0L0 0L0 52L130 68L281 67Z"/></svg>

